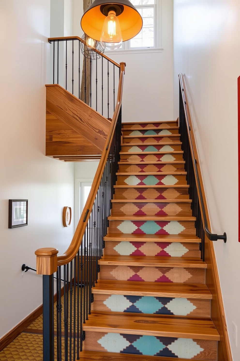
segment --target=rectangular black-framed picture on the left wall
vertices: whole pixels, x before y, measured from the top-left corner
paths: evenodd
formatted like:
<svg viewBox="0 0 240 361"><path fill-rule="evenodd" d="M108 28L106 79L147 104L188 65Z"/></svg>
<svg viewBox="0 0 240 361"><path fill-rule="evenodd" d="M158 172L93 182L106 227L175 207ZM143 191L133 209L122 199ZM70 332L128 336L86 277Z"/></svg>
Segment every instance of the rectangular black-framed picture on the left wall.
<svg viewBox="0 0 240 361"><path fill-rule="evenodd" d="M28 199L9 199L8 228L27 226Z"/></svg>

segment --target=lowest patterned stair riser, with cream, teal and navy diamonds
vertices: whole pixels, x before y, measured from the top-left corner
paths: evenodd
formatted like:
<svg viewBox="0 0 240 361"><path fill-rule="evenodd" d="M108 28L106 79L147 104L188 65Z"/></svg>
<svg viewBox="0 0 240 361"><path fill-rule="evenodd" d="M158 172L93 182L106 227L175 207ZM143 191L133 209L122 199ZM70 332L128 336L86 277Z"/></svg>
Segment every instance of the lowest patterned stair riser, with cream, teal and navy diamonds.
<svg viewBox="0 0 240 361"><path fill-rule="evenodd" d="M95 351L216 360L217 341L86 331L83 348ZM123 358L124 360L124 358Z"/></svg>

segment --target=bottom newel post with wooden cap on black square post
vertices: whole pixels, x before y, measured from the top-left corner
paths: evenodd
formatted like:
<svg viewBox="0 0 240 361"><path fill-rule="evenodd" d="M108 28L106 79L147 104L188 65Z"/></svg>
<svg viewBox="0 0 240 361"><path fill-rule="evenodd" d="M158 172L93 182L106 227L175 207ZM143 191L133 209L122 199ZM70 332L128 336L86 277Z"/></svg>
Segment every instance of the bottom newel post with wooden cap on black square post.
<svg viewBox="0 0 240 361"><path fill-rule="evenodd" d="M35 252L37 274L42 274L43 361L54 361L53 274L58 269L57 254L56 248L39 248Z"/></svg>

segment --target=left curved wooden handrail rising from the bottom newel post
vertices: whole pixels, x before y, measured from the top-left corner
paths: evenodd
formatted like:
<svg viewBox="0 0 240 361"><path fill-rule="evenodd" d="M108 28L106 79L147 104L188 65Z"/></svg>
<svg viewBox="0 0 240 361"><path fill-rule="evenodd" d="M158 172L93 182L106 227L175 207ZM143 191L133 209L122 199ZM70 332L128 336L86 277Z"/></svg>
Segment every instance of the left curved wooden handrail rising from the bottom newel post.
<svg viewBox="0 0 240 361"><path fill-rule="evenodd" d="M78 222L76 231L73 235L71 244L69 245L67 251L65 251L65 253L63 255L57 257L58 266L62 266L62 265L65 265L65 264L68 264L69 262L71 262L73 260L73 258L76 256L76 254L80 248L81 241L82 241L83 235L85 233L85 228L86 228L85 225L87 225L87 222L89 220L92 206L94 204L94 200L95 200L95 197L96 197L96 194L98 192L98 188L99 188L99 185L101 182L101 177L103 175L105 164L108 159L108 154L109 154L109 150L110 150L109 144L111 144L112 139L113 139L114 130L116 128L117 119L118 119L118 115L119 115L121 104L122 104L122 90L123 90L123 78L124 78L124 73L125 73L125 66L126 66L125 63L120 63L120 78L119 78L119 84L118 84L117 104L116 104L116 108L114 110L110 130L109 130L106 142L105 142L104 151L101 156L94 180L92 182L91 191L87 198L85 207L83 208L83 212L82 212L80 220Z"/></svg>

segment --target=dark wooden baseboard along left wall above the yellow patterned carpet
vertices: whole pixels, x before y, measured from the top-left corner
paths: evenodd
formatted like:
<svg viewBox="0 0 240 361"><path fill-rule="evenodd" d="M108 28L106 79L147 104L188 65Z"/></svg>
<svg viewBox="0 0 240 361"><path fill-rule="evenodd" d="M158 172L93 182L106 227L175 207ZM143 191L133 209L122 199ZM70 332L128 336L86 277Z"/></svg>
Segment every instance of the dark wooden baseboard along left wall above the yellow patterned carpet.
<svg viewBox="0 0 240 361"><path fill-rule="evenodd" d="M61 288L61 295L63 296L63 287ZM54 294L54 303L56 302L56 293ZM25 317L21 322L19 322L12 330L5 334L0 339L0 352L8 346L13 340L18 337L25 329L31 325L42 314L42 304L31 312L27 317Z"/></svg>

